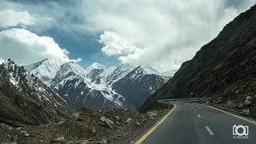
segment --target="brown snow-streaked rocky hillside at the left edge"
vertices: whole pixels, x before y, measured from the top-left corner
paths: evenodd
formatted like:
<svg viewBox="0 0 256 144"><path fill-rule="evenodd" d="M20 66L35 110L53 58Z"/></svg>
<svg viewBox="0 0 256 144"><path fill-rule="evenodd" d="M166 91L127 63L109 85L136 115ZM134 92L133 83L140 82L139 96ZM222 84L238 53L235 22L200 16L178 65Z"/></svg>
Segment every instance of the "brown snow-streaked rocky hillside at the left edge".
<svg viewBox="0 0 256 144"><path fill-rule="evenodd" d="M10 59L0 58L0 76L0 122L58 122L73 112L63 98Z"/></svg>

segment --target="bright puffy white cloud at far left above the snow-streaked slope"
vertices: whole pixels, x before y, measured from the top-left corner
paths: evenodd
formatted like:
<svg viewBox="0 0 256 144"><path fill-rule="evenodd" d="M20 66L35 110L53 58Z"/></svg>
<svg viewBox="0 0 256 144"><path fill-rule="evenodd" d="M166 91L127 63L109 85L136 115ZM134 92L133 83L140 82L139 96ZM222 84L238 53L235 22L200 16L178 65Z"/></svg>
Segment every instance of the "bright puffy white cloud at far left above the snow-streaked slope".
<svg viewBox="0 0 256 144"><path fill-rule="evenodd" d="M11 58L18 64L26 65L44 58L58 59L61 62L70 60L68 51L62 49L53 38L38 36L25 29L2 30L0 32L0 57Z"/></svg>

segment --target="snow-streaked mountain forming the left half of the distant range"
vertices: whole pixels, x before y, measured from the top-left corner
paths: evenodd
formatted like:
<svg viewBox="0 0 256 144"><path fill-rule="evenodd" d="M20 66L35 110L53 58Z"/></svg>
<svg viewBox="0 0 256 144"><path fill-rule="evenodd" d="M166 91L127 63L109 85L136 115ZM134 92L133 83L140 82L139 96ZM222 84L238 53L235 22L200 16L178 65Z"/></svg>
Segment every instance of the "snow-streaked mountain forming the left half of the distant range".
<svg viewBox="0 0 256 144"><path fill-rule="evenodd" d="M91 70L94 71L94 70ZM126 108L125 98L110 87L90 82L86 70L75 62L67 62L58 70L50 87L58 90L75 108L94 110Z"/></svg>

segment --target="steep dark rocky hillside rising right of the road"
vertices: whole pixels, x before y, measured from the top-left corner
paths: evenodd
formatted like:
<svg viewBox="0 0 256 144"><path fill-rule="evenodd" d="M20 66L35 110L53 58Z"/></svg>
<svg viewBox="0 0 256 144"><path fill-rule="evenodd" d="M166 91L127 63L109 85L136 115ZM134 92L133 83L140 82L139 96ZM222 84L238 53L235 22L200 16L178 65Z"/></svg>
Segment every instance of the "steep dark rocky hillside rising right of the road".
<svg viewBox="0 0 256 144"><path fill-rule="evenodd" d="M256 6L239 14L211 42L184 62L150 96L146 110L162 98L212 97L214 104L248 110L256 102ZM193 94L191 94L193 93Z"/></svg>

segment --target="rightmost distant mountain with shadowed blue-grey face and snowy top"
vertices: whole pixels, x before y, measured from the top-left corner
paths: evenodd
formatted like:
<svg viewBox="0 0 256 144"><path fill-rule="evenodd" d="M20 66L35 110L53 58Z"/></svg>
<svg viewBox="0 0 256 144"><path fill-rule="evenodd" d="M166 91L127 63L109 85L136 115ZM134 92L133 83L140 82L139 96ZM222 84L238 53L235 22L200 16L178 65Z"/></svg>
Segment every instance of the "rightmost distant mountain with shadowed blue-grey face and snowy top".
<svg viewBox="0 0 256 144"><path fill-rule="evenodd" d="M126 76L114 82L112 88L126 98L130 108L138 108L168 79L156 73L158 72L150 66L137 66Z"/></svg>

